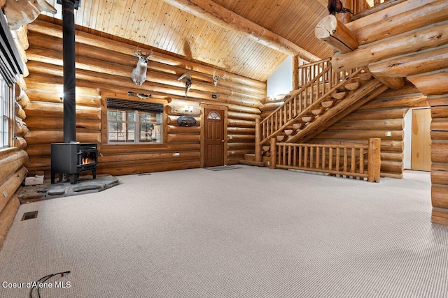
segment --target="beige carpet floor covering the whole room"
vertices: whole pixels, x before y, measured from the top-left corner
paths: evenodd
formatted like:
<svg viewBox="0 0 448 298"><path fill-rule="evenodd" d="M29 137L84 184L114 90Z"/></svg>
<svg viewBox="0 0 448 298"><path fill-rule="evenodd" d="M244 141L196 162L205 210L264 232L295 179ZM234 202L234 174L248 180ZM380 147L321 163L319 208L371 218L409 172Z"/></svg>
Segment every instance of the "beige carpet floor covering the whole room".
<svg viewBox="0 0 448 298"><path fill-rule="evenodd" d="M448 227L430 223L427 172L370 184L241 165L119 179L22 205L0 297L67 270L41 297L448 297Z"/></svg>

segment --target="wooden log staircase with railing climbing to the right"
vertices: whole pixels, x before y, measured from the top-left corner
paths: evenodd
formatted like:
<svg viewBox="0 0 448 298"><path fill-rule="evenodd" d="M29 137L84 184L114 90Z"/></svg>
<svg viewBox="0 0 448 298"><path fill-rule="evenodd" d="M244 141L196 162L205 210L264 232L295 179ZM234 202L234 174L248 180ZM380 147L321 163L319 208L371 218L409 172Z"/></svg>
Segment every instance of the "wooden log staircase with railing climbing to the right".
<svg viewBox="0 0 448 298"><path fill-rule="evenodd" d="M291 91L283 105L256 121L255 156L245 156L240 163L264 166L263 156L269 156L272 138L276 142L307 142L388 88L363 68L334 73L328 63L315 73Z"/></svg>

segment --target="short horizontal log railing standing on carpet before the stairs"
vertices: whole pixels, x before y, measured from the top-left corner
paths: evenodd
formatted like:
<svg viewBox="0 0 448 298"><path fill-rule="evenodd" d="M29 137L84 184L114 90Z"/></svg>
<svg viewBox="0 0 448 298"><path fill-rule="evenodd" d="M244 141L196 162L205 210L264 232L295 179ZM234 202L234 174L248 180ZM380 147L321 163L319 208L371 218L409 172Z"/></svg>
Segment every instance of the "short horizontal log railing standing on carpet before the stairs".
<svg viewBox="0 0 448 298"><path fill-rule="evenodd" d="M270 140L269 167L333 174L379 182L381 140L367 145L296 144ZM367 160L365 158L367 156Z"/></svg>

